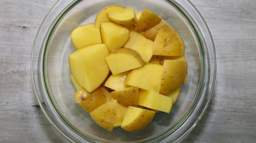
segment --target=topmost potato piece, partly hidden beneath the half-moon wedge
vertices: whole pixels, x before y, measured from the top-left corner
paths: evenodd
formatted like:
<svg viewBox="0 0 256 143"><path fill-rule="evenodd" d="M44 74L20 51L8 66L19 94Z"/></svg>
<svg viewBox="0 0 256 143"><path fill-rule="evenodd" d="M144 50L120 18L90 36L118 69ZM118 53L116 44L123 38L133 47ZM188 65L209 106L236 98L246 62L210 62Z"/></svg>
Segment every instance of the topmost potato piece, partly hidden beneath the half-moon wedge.
<svg viewBox="0 0 256 143"><path fill-rule="evenodd" d="M105 8L102 8L97 16L96 16L96 19L95 19L95 27L99 28L100 27L100 23L101 22L113 22L107 15L107 12L110 12L110 11L115 11L115 10L118 10L118 9L123 9L125 7L123 6L119 6L119 5L109 5Z"/></svg>

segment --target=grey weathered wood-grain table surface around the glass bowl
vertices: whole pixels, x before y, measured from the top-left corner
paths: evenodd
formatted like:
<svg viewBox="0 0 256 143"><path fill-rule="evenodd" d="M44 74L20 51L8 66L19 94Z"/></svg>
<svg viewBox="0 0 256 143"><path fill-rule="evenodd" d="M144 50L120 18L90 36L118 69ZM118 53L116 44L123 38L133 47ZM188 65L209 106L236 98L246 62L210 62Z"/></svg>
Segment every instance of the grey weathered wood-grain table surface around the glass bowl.
<svg viewBox="0 0 256 143"><path fill-rule="evenodd" d="M0 142L69 142L34 95L31 52L56 0L0 0ZM256 1L191 0L212 34L217 79L212 100L180 143L256 142Z"/></svg>

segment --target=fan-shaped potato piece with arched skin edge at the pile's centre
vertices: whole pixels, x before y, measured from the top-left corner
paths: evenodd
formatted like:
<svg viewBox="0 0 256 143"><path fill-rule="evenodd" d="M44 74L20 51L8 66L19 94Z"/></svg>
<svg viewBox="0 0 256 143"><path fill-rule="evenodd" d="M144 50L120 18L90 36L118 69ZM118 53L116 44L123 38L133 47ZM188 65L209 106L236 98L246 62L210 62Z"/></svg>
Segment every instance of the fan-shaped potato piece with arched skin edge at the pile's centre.
<svg viewBox="0 0 256 143"><path fill-rule="evenodd" d="M139 53L129 48L119 48L112 51L105 56L105 59L113 75L144 65Z"/></svg>

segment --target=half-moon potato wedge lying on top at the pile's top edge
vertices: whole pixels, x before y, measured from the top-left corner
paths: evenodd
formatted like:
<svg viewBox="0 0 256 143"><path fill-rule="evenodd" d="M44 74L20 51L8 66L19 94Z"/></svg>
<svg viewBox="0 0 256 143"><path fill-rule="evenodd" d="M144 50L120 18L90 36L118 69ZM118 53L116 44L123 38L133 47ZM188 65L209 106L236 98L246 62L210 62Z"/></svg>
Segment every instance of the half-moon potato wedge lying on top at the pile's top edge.
<svg viewBox="0 0 256 143"><path fill-rule="evenodd" d="M138 22L133 7L110 11L107 12L107 15L114 22L123 25L131 25Z"/></svg>

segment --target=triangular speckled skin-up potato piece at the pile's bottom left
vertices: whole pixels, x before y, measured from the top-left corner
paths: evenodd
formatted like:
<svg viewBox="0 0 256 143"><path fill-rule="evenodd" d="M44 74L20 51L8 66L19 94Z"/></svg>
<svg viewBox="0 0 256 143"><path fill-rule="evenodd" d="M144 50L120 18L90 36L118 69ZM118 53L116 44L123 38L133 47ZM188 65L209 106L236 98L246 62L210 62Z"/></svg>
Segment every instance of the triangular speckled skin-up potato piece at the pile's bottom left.
<svg viewBox="0 0 256 143"><path fill-rule="evenodd" d="M112 131L115 126L117 115L117 101L105 103L90 113L92 119L101 127Z"/></svg>

